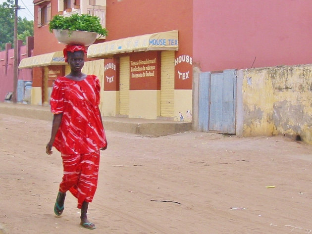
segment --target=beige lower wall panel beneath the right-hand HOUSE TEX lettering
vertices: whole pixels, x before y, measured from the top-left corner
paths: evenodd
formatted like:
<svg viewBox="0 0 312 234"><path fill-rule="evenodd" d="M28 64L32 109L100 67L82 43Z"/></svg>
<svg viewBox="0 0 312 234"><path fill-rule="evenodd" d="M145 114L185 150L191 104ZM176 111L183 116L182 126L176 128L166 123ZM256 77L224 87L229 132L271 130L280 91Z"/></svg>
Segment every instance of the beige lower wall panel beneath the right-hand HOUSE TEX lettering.
<svg viewBox="0 0 312 234"><path fill-rule="evenodd" d="M192 121L192 90L174 90L174 120Z"/></svg>

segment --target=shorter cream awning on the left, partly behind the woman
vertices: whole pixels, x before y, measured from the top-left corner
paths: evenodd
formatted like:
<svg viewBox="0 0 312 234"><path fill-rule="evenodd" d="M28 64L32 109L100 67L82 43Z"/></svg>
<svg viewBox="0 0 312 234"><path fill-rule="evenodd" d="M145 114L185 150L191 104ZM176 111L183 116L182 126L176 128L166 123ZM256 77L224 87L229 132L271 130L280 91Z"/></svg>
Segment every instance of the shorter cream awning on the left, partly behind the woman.
<svg viewBox="0 0 312 234"><path fill-rule="evenodd" d="M63 51L56 51L52 53L44 53L28 58L23 58L19 63L18 68L32 68L44 67L50 65L66 65Z"/></svg>

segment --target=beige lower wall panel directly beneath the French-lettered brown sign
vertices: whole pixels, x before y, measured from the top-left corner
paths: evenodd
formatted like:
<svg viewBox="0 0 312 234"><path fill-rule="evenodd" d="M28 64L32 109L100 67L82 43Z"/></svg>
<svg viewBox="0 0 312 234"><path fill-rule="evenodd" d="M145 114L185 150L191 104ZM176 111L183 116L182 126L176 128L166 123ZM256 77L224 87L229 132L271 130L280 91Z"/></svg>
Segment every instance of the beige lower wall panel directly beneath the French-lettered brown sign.
<svg viewBox="0 0 312 234"><path fill-rule="evenodd" d="M129 118L156 119L160 115L160 90L131 90Z"/></svg>

